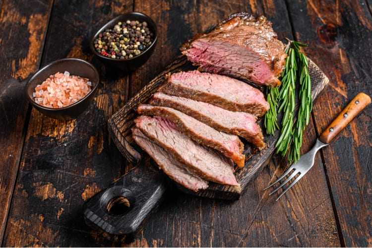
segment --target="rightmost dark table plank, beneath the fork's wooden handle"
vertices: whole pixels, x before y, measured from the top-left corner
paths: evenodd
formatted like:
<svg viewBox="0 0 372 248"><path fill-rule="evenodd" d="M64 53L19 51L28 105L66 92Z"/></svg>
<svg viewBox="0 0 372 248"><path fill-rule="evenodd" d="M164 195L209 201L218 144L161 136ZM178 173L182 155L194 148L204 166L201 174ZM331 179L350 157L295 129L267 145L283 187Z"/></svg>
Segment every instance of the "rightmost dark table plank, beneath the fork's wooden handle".
<svg viewBox="0 0 372 248"><path fill-rule="evenodd" d="M298 20L298 39L317 48L308 49L308 56L331 79L313 110L319 134L358 92L372 95L371 12L365 1L290 1L289 6L292 19ZM309 27L311 32L303 32ZM341 246L372 245L371 110L367 107L322 150Z"/></svg>

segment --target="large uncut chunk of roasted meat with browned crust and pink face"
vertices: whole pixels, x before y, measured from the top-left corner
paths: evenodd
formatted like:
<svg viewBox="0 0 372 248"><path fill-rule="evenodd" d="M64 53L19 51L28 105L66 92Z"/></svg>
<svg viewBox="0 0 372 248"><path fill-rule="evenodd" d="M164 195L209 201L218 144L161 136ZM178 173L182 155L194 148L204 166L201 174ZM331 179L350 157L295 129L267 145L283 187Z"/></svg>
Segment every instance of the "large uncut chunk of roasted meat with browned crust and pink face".
<svg viewBox="0 0 372 248"><path fill-rule="evenodd" d="M211 32L197 34L181 47L199 70L275 87L285 66L284 45L264 16L235 13Z"/></svg>

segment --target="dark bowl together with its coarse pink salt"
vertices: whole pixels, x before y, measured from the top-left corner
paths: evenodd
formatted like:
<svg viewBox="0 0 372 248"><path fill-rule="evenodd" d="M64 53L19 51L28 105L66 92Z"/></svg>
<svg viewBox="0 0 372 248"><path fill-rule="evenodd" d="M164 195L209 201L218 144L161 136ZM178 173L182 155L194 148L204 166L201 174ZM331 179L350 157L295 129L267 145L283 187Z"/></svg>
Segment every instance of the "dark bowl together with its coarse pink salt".
<svg viewBox="0 0 372 248"><path fill-rule="evenodd" d="M99 74L89 62L68 58L52 62L26 83L25 93L32 106L58 120L76 119L97 92Z"/></svg>

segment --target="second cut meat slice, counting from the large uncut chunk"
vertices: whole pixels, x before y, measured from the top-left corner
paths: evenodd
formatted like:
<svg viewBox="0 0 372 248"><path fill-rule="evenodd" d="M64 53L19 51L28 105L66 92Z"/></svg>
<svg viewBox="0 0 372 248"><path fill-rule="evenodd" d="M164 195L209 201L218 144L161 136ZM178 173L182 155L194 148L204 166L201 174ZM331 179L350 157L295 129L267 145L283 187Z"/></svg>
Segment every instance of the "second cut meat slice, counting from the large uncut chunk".
<svg viewBox="0 0 372 248"><path fill-rule="evenodd" d="M156 92L149 103L172 107L216 130L241 136L260 150L265 147L262 130L256 124L256 117L251 114L228 111L209 103L170 96L162 92Z"/></svg>

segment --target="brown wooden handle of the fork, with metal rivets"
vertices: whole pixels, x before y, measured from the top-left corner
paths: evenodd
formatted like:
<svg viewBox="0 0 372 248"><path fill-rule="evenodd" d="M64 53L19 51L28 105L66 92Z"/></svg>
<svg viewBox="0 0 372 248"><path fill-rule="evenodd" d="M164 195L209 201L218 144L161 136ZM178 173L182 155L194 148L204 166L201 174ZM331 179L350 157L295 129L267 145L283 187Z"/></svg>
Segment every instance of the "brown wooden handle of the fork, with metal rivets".
<svg viewBox="0 0 372 248"><path fill-rule="evenodd" d="M336 119L320 134L319 140L328 144L344 129L364 108L371 103L371 98L365 93L358 93Z"/></svg>

